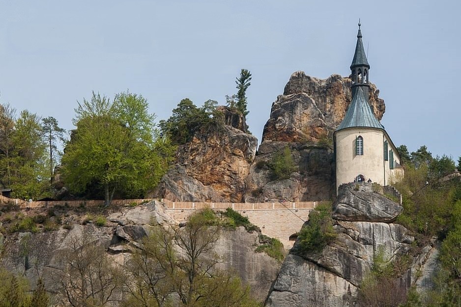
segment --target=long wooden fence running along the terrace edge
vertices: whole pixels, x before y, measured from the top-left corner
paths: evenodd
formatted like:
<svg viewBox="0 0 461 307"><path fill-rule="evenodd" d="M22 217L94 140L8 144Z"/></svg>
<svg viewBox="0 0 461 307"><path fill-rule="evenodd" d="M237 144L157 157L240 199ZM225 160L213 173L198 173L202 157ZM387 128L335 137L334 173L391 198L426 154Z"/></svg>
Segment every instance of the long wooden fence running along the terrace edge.
<svg viewBox="0 0 461 307"><path fill-rule="evenodd" d="M142 203L150 202L155 199L124 199L113 200L112 205L139 205ZM169 209L178 210L196 210L206 207L212 209L226 209L232 208L236 211L244 210L273 210L273 209L313 209L321 202L276 202L276 203L205 203L205 202L172 202L166 199L159 199L165 203ZM28 202L21 199L7 198L0 195L0 204L19 205L21 208L43 208L54 206L69 206L69 207L94 207L104 205L103 200L97 201L42 201L42 202Z"/></svg>

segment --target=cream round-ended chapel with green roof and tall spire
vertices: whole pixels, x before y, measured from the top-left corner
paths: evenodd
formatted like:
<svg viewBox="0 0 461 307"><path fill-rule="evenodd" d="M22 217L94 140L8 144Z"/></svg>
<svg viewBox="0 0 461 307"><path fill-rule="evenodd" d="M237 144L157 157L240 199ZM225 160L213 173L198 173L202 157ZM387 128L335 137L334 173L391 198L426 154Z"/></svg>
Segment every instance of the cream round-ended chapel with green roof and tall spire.
<svg viewBox="0 0 461 307"><path fill-rule="evenodd" d="M386 185L403 175L399 153L368 101L370 64L360 26L350 65L352 101L333 135L337 191L343 183L371 180Z"/></svg>

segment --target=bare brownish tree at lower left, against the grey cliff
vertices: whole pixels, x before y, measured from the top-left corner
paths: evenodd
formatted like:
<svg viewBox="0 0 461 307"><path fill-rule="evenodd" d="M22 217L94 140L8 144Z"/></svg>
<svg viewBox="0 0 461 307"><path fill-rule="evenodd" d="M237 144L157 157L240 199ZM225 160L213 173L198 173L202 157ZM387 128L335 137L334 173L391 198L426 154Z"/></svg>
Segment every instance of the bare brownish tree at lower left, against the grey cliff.
<svg viewBox="0 0 461 307"><path fill-rule="evenodd" d="M71 238L68 248L58 255L63 270L57 276L61 303L73 307L112 306L118 301L122 274L106 256L98 238L85 229Z"/></svg>

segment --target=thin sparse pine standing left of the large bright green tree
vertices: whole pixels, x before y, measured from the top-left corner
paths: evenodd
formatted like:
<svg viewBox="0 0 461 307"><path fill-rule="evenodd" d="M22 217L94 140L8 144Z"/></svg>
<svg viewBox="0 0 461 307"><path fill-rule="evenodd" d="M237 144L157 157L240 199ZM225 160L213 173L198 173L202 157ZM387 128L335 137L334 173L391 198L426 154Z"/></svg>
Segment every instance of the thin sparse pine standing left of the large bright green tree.
<svg viewBox="0 0 461 307"><path fill-rule="evenodd" d="M61 153L58 151L58 142L64 142L63 128L59 128L56 118L49 116L42 119L42 128L49 150L50 183L53 183L53 166L58 164Z"/></svg>

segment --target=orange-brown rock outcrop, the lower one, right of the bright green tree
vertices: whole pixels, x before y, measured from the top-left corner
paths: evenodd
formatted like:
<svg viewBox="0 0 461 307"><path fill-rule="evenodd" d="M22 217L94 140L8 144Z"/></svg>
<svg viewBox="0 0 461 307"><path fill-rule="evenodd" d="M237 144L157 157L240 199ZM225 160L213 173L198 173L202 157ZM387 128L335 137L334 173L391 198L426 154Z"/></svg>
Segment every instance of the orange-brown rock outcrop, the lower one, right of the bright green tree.
<svg viewBox="0 0 461 307"><path fill-rule="evenodd" d="M241 115L219 107L227 124L212 125L177 150L175 166L153 197L185 202L241 202L258 139ZM235 127L234 127L235 126Z"/></svg>

